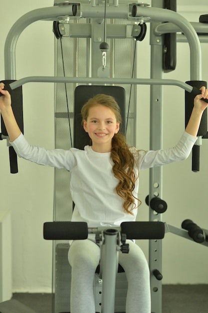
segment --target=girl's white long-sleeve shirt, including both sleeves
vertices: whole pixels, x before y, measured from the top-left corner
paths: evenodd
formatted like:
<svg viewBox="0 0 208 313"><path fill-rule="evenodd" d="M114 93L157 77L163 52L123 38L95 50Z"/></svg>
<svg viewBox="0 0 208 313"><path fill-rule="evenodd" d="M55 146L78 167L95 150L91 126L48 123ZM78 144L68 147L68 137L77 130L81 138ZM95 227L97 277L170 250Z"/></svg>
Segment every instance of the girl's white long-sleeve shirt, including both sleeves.
<svg viewBox="0 0 208 313"><path fill-rule="evenodd" d="M135 156L135 173L153 166L186 159L197 137L183 133L178 144L172 148L157 151L140 150ZM118 179L113 174L113 161L110 152L99 153L86 145L84 150L70 148L45 149L30 145L22 134L11 142L17 155L38 164L65 168L71 171L70 191L75 203L72 221L86 221L88 227L119 226L123 221L135 221L134 215L124 212L123 199L115 188ZM133 148L133 151L136 151ZM139 189L139 179L135 184L135 195ZM136 200L135 200L136 201ZM137 205L137 203L136 203Z"/></svg>

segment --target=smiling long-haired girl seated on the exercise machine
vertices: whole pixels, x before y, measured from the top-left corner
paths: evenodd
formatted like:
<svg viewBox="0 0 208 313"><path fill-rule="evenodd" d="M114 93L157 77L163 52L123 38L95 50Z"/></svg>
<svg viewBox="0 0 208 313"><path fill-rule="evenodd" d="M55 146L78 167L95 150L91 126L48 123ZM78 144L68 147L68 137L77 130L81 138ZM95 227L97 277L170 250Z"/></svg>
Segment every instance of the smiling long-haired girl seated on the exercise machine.
<svg viewBox="0 0 208 313"><path fill-rule="evenodd" d="M119 106L111 96L99 94L82 107L83 127L92 145L84 150L47 150L31 146L22 135L11 109L8 91L0 83L0 111L18 156L38 164L66 168L71 171L71 194L75 203L72 221L86 221L89 227L120 225L134 221L140 204L138 194L139 170L160 166L188 157L197 139L203 111L208 103L208 89L194 100L194 108L179 143L169 149L143 151L129 148L119 134L121 115ZM150 313L151 297L149 267L143 251L131 240L128 254L119 252L128 293L126 313ZM90 251L90 252L89 252ZM93 278L100 259L100 248L94 238L74 240L68 259L72 266L71 313L95 313Z"/></svg>

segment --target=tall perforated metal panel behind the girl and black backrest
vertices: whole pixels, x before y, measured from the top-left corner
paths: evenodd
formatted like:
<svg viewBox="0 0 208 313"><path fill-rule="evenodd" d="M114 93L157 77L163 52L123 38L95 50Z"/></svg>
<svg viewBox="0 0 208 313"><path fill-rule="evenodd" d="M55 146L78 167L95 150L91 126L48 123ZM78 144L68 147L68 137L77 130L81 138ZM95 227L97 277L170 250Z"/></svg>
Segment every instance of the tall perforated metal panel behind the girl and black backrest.
<svg viewBox="0 0 208 313"><path fill-rule="evenodd" d="M71 19L69 23L63 24L65 34L62 39L55 39L55 75L88 77L91 75L92 66L91 50L93 42L89 35L83 37L79 30L80 24L89 26L89 20L80 18ZM130 23L127 20L107 20L108 24L120 24L129 32ZM90 27L88 27L90 28ZM76 37L74 32L76 32ZM109 34L110 35L110 34ZM110 67L112 77L132 77L135 41L132 37L108 38L109 52L107 52L107 66ZM102 52L97 51L96 58L101 59ZM135 69L136 70L136 64ZM133 77L136 77L134 71ZM90 78L89 78L90 84ZM73 105L74 89L77 84L57 83L55 85L55 147L69 149L73 146ZM134 145L135 142L135 116L136 116L136 87L135 85L121 85L126 91L126 116L128 116L127 142ZM131 97L130 97L131 94ZM129 105L130 103L130 105ZM84 104L84 103L83 103ZM129 105L129 107L128 107ZM125 121L126 124L127 120ZM72 215L72 199L70 195L70 172L63 169L55 169L54 181L54 220L70 220ZM69 311L70 306L70 265L68 264L67 251L68 242L54 242L53 252L53 293L55 313ZM127 282L125 275L121 275L123 283L122 294L126 292ZM119 276L119 279L120 277ZM123 278L124 276L124 278ZM122 296L123 297L123 296ZM124 296L125 298L125 296ZM116 293L116 307L125 311L125 301L121 302L121 293Z"/></svg>

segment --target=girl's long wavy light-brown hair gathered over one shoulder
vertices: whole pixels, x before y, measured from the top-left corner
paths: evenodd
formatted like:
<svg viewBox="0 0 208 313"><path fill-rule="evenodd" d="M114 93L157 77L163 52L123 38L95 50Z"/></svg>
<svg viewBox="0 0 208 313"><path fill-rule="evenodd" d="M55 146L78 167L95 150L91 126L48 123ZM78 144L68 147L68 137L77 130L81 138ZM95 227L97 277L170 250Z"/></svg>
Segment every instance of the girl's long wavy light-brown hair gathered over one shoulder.
<svg viewBox="0 0 208 313"><path fill-rule="evenodd" d="M87 120L89 109L99 104L109 107L114 112L116 121L122 122L120 107L115 98L107 94L96 94L82 106L82 124ZM119 180L116 192L124 199L124 211L133 214L132 210L137 207L135 199L139 201L139 205L141 204L141 201L133 195L138 176L135 175L135 157L122 133L115 133L112 138L111 158L114 162L114 176Z"/></svg>

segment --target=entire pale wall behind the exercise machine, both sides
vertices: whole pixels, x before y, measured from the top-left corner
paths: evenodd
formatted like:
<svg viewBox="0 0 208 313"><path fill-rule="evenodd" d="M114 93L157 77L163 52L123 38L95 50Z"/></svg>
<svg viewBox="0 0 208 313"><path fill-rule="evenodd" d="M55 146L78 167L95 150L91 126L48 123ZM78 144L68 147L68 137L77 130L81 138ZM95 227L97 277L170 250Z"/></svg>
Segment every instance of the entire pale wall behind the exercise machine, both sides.
<svg viewBox="0 0 208 313"><path fill-rule="evenodd" d="M178 1L183 4L184 1ZM190 4L189 1L188 4ZM198 21L206 12L201 2L186 9L178 5L190 21ZM53 0L10 0L1 3L0 79L4 78L3 43L12 24L24 13L46 6ZM12 7L12 10L11 10ZM189 12L191 7L191 12ZM3 13L2 13L3 12ZM149 26L149 25L148 25ZM52 22L38 21L20 35L16 48L17 79L30 75L53 75L54 36ZM149 77L150 47L148 36L138 42L138 76ZM208 44L203 44L203 79L208 80ZM189 48L178 44L177 70L165 75L182 81L189 80ZM149 148L149 87L139 86L138 147ZM23 86L24 128L28 141L48 148L54 146L53 84L29 83ZM174 145L184 129L184 91L164 87L164 147ZM0 210L8 209L12 216L12 276L13 291L50 292L51 242L42 238L42 225L52 220L53 169L19 159L19 173L9 173L8 149L0 142ZM168 202L164 221L177 227L191 218L208 228L207 166L208 141L201 148L201 171L191 171L191 157L181 163L164 166L163 198ZM148 194L148 171L140 175L140 220L148 220L145 197ZM164 283L208 283L208 248L195 242L167 234L163 240ZM140 242L148 256L147 242Z"/></svg>

